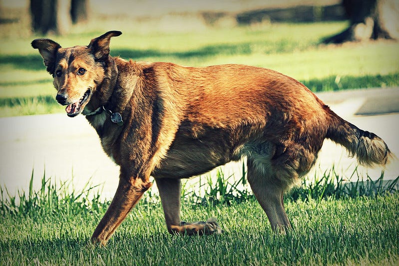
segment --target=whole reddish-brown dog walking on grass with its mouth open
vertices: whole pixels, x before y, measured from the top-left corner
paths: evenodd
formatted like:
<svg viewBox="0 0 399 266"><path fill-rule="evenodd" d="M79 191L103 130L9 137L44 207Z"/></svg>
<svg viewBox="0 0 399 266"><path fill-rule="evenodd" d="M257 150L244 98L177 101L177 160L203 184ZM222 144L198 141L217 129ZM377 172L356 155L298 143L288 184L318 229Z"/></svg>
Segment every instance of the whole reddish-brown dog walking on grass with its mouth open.
<svg viewBox="0 0 399 266"><path fill-rule="evenodd" d="M203 68L109 55L109 31L88 46L35 39L56 100L80 113L120 166L119 186L93 242L105 245L153 176L170 233L220 233L216 221L180 222L180 179L247 157L248 181L274 229L290 227L283 194L314 165L329 138L362 164L387 163L378 136L330 110L297 80L246 65Z"/></svg>

